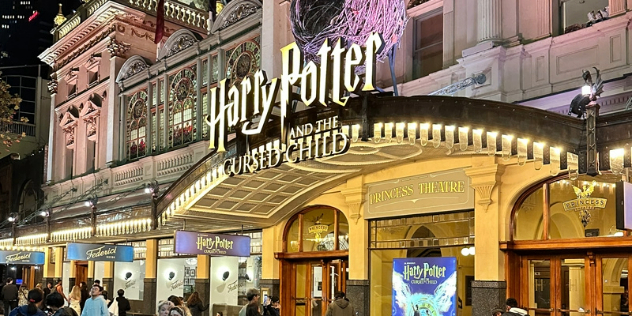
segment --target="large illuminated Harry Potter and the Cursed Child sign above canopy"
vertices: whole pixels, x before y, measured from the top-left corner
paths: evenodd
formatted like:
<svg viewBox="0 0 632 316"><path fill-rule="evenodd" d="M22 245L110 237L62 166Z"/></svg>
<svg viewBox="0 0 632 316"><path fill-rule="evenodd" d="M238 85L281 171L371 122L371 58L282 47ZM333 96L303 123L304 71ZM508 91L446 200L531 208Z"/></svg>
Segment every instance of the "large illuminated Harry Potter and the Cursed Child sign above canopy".
<svg viewBox="0 0 632 316"><path fill-rule="evenodd" d="M277 98L280 99L281 136L285 146L266 149L253 154L226 160L226 174L235 175L256 172L276 167L283 162L332 156L344 153L349 148L349 137L341 133L337 117L313 124L291 127L286 131L288 108L294 101L305 106L320 104L346 105L347 93L375 90L376 56L384 42L379 34L371 34L364 47L349 46L338 40L333 46L325 41L318 51L319 65L310 61L303 66L303 55L296 43L281 49L283 71L280 78L268 79L265 72L257 71L253 76L228 87L226 79L209 91L209 125L211 149L225 151L227 130L241 127L244 135L262 132L270 120ZM356 72L364 67L364 74ZM294 88L299 88L300 93ZM293 140L284 142L283 139ZM306 141L309 140L309 141Z"/></svg>

